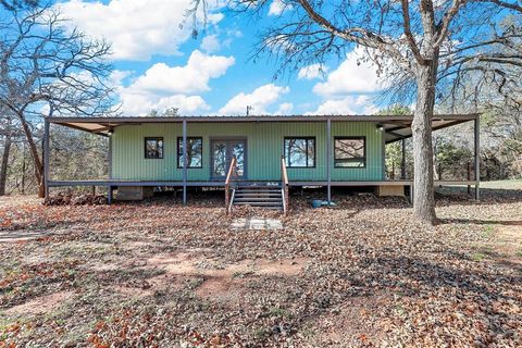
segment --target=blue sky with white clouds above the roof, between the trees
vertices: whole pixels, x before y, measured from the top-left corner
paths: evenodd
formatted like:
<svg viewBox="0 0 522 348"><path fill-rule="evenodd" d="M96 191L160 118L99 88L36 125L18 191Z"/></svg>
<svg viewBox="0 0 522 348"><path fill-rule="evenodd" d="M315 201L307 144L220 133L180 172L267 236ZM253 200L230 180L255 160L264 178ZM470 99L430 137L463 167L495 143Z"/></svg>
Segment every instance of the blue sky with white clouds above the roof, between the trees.
<svg viewBox="0 0 522 348"><path fill-rule="evenodd" d="M71 0L63 15L95 38L112 42L111 84L126 115L178 108L182 114L353 114L376 111L375 70L357 64L358 50L322 67L303 66L274 80L270 57L249 60L264 25L290 15L272 0L259 20L212 3L197 39L186 17L190 0ZM201 20L201 15L199 16Z"/></svg>

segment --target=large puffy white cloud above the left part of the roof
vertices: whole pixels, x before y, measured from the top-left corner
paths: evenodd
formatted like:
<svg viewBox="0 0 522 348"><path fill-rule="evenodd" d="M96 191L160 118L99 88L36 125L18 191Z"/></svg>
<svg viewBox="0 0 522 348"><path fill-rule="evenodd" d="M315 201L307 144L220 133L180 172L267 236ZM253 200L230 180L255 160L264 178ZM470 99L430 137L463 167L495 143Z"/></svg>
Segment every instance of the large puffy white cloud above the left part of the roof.
<svg viewBox="0 0 522 348"><path fill-rule="evenodd" d="M115 72L113 80L126 114L142 115L151 109L166 108L178 108L182 114L196 113L210 110L196 94L210 90L209 80L225 74L233 64L234 57L208 55L195 50L184 66L156 63L128 86L122 84L128 72Z"/></svg>

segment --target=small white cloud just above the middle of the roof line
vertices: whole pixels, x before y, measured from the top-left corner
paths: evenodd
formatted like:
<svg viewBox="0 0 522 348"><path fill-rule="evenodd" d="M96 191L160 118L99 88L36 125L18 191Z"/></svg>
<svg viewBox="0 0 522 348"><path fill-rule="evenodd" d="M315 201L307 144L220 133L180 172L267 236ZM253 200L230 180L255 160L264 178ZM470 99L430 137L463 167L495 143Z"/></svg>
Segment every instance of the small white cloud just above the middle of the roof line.
<svg viewBox="0 0 522 348"><path fill-rule="evenodd" d="M279 97L287 94L288 87L268 84L256 88L251 94L240 92L234 96L228 102L220 109L219 113L223 115L244 115L247 105L252 107L252 114L266 114L266 108L276 102Z"/></svg>

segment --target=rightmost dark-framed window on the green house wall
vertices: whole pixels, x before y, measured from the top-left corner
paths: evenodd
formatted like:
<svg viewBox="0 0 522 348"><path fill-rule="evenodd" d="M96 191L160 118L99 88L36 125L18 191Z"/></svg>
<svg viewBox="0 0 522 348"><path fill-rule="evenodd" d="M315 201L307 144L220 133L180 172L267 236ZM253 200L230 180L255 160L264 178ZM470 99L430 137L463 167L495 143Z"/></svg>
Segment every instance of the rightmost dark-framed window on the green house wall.
<svg viewBox="0 0 522 348"><path fill-rule="evenodd" d="M334 139L334 164L337 167L366 166L366 138L344 137Z"/></svg>

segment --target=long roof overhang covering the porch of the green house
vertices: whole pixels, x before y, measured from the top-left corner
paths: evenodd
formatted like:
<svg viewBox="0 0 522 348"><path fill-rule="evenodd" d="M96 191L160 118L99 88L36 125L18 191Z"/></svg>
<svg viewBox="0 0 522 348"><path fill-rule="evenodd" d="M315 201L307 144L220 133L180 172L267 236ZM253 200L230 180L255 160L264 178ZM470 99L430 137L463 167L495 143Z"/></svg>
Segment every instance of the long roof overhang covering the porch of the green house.
<svg viewBox="0 0 522 348"><path fill-rule="evenodd" d="M434 115L433 129L442 129L472 121L480 114L440 114ZM48 117L47 121L74 129L108 136L122 125L145 123L231 123L231 122L373 122L385 130L386 144L411 137L412 115L289 115L289 116L174 116L174 117Z"/></svg>

